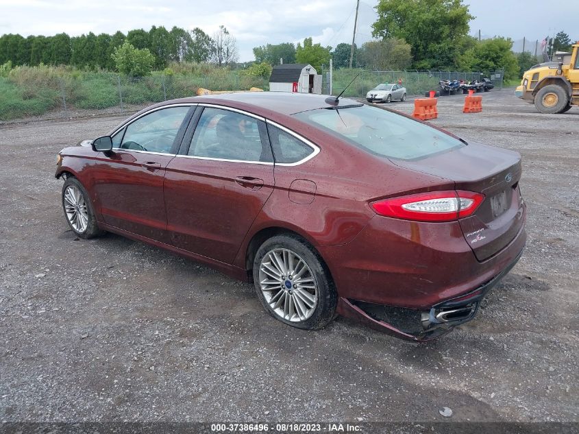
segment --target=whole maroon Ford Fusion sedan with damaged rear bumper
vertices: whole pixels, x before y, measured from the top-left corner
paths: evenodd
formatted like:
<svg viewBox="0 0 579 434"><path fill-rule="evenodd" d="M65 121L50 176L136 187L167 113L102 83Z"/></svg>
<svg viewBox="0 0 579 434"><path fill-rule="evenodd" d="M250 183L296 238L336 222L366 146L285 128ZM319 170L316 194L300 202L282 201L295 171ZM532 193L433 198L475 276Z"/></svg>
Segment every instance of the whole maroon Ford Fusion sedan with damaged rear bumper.
<svg viewBox="0 0 579 434"><path fill-rule="evenodd" d="M83 238L145 241L254 282L276 319L415 341L473 318L526 241L521 159L321 95L175 99L63 149Z"/></svg>

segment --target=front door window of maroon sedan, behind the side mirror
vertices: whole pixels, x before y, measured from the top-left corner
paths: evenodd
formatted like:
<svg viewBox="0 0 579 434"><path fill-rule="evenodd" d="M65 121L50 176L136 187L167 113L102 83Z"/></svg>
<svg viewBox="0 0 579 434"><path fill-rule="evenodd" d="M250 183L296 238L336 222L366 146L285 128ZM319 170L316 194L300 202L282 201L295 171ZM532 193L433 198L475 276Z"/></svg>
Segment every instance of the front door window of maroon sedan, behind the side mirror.
<svg viewBox="0 0 579 434"><path fill-rule="evenodd" d="M119 147L169 154L189 108L169 107L145 114L127 126Z"/></svg>

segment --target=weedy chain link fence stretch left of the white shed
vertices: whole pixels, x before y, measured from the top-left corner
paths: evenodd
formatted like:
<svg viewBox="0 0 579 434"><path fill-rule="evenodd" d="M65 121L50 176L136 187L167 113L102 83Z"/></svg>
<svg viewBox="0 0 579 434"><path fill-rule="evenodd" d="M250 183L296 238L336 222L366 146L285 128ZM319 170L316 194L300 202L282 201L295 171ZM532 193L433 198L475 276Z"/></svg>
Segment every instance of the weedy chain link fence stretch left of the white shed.
<svg viewBox="0 0 579 434"><path fill-rule="evenodd" d="M242 91L251 87L267 91L268 79L238 71L132 78L106 72L51 75L21 69L0 76L0 123L129 113L167 99L193 97L199 88Z"/></svg>

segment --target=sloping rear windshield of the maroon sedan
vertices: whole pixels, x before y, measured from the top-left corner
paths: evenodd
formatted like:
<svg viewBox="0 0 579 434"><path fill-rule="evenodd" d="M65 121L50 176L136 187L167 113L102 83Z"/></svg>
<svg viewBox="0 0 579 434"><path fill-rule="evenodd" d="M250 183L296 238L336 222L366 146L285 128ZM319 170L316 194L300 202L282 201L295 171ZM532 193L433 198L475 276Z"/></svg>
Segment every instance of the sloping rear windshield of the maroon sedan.
<svg viewBox="0 0 579 434"><path fill-rule="evenodd" d="M372 106L320 108L294 116L386 158L417 160L465 145L428 125Z"/></svg>

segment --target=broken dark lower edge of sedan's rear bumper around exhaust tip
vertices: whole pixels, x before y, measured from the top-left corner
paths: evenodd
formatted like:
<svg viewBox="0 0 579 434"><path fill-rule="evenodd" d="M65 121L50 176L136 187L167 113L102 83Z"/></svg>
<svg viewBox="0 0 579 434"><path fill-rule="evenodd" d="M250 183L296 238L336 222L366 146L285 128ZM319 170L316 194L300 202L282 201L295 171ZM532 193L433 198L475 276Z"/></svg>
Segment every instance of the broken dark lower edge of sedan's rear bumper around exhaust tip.
<svg viewBox="0 0 579 434"><path fill-rule="evenodd" d="M430 341L472 320L484 296L515 267L522 253L521 250L500 274L484 285L458 297L434 304L429 310L397 308L341 297L338 300L338 313L400 339L416 342Z"/></svg>

